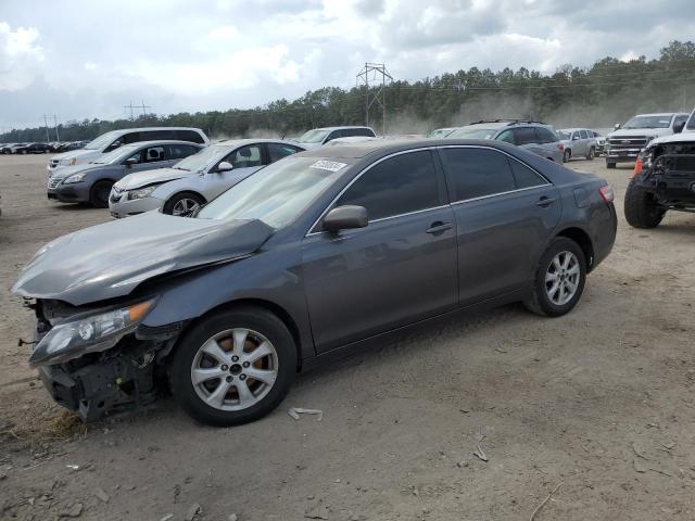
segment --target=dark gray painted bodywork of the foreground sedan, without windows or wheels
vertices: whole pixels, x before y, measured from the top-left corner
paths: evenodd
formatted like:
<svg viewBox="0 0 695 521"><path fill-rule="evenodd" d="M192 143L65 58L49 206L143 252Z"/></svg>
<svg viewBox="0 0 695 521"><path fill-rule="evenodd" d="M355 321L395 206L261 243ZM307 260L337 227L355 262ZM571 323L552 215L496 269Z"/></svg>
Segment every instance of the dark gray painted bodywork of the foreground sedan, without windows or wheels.
<svg viewBox="0 0 695 521"><path fill-rule="evenodd" d="M458 204L443 204L441 208L422 212L420 217L405 216L393 228L391 225L370 224L364 230L345 231L338 236L308 233L341 190L376 161L412 150L457 145L501 150L542 173L552 183L552 187L533 193L529 191L520 196L520 201L528 201L532 206L527 208L528 217L518 217L520 221L526 218L533 224L523 236L526 243L513 240L504 244L510 234L518 232L518 228L506 231L505 223L513 221L509 216L514 215L514 208L517 208L518 215L518 208L522 207L518 206L519 201L514 198L490 198L496 209L503 213L500 217L495 216L496 211L485 213L492 224L496 223L494 236L498 237L500 244L496 245L495 255L501 257L502 264L492 271L495 280L482 284L475 295L472 292L467 294L469 288L466 281L485 279L490 277L490 270L484 262L489 258L484 245L475 245L476 241L484 238L485 219L480 217L477 224L473 221L468 225L469 218L479 215L473 206L456 216L457 227L441 237L425 237L422 231L433 221L452 219ZM369 341L375 335L447 310L468 308L472 303L501 304L521 298L532 288L540 255L548 242L564 230L584 233L591 241L590 269L608 255L615 241L615 208L598 194L598 188L606 185L605 180L568 170L506 143L451 139L365 142L354 147L304 152L283 161L292 161L298 156L339 160L346 163L348 167L329 189L286 228L273 233L264 225L254 224L248 225L253 228L244 228L233 221L208 223L147 214L101 225L77 232L72 239L68 236L67 240L56 241L31 262L13 290L24 296L87 304L118 295L136 298L147 288L148 292L160 295L157 305L143 321L143 326L148 327L193 319L219 305L251 300L267 305L286 320L300 346L300 358L308 359L316 354L354 345L355 342ZM577 196L578 189L584 191L581 198ZM557 195L553 208L548 217L533 217L533 214L542 214L535 202L546 191ZM525 199L527 195L528 199ZM482 203L479 206L482 215L486 208ZM151 221L150 218L155 220ZM146 232L148 228L152 230ZM211 233L206 234L206 239L195 240L197 233L203 230ZM240 247L232 236L242 232L245 234L243 247ZM122 244L118 249L110 246L114 236ZM121 252L128 244L126 238L134 241L128 246L127 255ZM229 238L230 242L225 242L223 238ZM67 242L62 244L62 241ZM350 242L354 245L345 246ZM494 243L494 238L491 238L486 244ZM212 255L211 251L215 254ZM192 260L179 260L181 255ZM240 255L242 258L238 258ZM462 277L464 283L457 287L454 258L462 255L477 256L479 259L472 264L458 263L458 269L465 272ZM80 256L83 258L79 260L75 259ZM156 279L165 269L176 270L184 265L202 265L225 258L238 259L161 279L160 282ZM134 267L125 267L132 260L137 260ZM77 270L75 263L79 267ZM167 267L169 263L170 268ZM506 277L507 274L502 271L504 266L516 266L516 269ZM429 277L431 274L435 275ZM148 276L155 279L146 285L138 285ZM413 276L417 280L413 280ZM128 283L134 277L137 281ZM54 282L55 278L62 280ZM389 280L380 280L382 278ZM119 283L124 285L115 291L114 284ZM430 283L432 290L428 288ZM414 294L416 289L419 291ZM384 291L394 294L384 295ZM418 303L421 296L424 302ZM355 305L365 309L355 310ZM365 326L361 326L367 316L366 308L372 305L377 314L383 315L372 317ZM337 325L340 330L333 331Z"/></svg>

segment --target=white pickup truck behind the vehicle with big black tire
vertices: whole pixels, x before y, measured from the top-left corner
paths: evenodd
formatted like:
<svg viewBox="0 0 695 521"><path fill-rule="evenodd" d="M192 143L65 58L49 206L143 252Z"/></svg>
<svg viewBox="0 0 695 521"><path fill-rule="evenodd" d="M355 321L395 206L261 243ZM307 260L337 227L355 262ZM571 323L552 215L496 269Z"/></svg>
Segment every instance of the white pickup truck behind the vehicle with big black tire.
<svg viewBox="0 0 695 521"><path fill-rule="evenodd" d="M616 125L616 130L606 136L606 166L634 162L653 139L681 132L688 116L683 112L639 114L622 127Z"/></svg>

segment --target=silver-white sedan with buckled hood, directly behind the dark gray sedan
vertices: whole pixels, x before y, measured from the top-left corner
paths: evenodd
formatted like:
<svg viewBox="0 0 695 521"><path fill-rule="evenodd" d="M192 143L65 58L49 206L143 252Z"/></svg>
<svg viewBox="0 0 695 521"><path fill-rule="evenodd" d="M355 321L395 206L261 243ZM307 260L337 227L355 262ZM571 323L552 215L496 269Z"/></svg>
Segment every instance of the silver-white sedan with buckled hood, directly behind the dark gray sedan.
<svg viewBox="0 0 695 521"><path fill-rule="evenodd" d="M109 198L115 218L151 209L188 217L265 165L302 152L303 147L273 139L237 139L211 144L172 168L135 173L116 182Z"/></svg>

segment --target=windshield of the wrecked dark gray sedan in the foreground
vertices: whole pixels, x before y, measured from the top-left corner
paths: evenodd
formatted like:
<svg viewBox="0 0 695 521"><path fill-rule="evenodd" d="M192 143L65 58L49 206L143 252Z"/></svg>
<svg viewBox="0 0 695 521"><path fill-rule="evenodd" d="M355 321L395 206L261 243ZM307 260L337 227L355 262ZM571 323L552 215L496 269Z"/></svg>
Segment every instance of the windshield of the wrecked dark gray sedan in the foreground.
<svg viewBox="0 0 695 521"><path fill-rule="evenodd" d="M286 157L231 187L204 206L198 217L258 219L273 228L283 228L330 187L346 166L316 157Z"/></svg>

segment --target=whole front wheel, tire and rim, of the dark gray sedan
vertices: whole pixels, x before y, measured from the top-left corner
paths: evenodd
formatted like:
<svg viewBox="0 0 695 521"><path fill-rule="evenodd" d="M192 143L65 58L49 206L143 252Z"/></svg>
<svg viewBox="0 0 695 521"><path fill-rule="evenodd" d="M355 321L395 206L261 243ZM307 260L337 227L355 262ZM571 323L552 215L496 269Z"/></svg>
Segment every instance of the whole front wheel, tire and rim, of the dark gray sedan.
<svg viewBox="0 0 695 521"><path fill-rule="evenodd" d="M257 420L289 392L296 346L285 323L260 307L216 313L176 347L172 392L195 420L230 427Z"/></svg>

